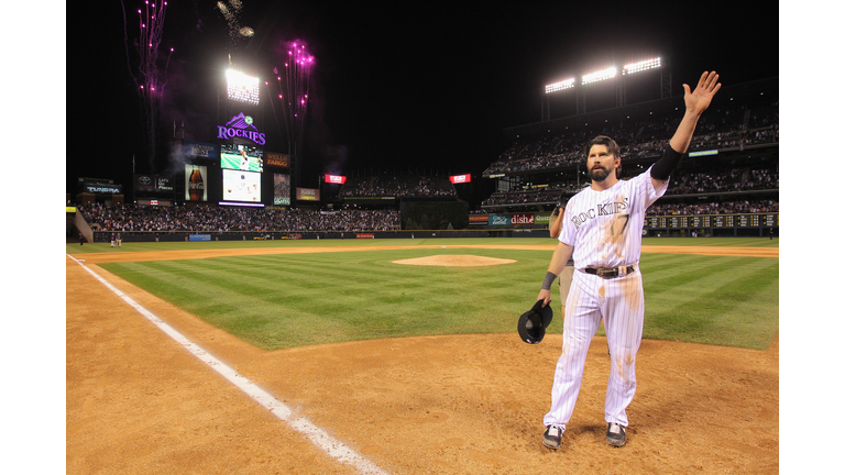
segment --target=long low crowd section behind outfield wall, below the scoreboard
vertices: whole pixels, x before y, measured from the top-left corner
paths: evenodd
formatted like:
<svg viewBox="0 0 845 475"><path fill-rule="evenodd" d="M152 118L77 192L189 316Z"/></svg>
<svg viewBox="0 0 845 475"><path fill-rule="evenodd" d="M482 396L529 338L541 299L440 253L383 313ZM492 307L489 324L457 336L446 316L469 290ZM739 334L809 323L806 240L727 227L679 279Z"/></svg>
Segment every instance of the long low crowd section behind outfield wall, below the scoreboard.
<svg viewBox="0 0 845 475"><path fill-rule="evenodd" d="M100 203L79 207L100 231L389 231L398 229L398 211L305 211L210 206L155 207Z"/></svg>

